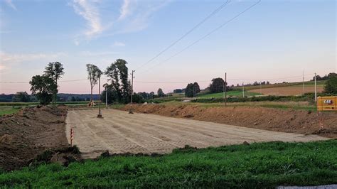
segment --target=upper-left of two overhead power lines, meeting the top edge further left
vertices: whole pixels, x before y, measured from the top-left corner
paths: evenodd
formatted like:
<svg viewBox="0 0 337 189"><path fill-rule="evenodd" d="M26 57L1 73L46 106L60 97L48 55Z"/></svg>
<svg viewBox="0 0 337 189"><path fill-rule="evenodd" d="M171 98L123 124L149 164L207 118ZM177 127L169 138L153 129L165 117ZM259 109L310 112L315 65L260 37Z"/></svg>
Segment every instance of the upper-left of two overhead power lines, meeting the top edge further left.
<svg viewBox="0 0 337 189"><path fill-rule="evenodd" d="M215 9L212 13L210 13L210 15L206 16L205 18L203 18L202 21L200 21L196 26L194 26L193 28L191 28L191 30L189 30L188 32L186 32L185 34L183 34L183 36L181 36L180 38L178 38L176 41L174 41L173 43L171 43L171 45L169 45L168 47L166 47L164 50L161 50L160 53L158 53L157 55L155 55L153 58L151 58L150 60L148 60L146 63L140 65L136 70L138 70L139 68L143 67L144 65L151 63L151 61L153 61L154 59L158 58L161 54L163 54L166 50L169 50L173 45L176 45L176 43L178 43L179 41L181 41L183 38L185 38L186 36L188 36L188 34L190 34L192 31L194 31L196 28L198 28L199 26L201 26L201 24L203 24L205 21L207 21L210 17L212 17L213 15L215 15L215 13L218 13L218 11L220 11L221 9L223 9L223 7L225 7L226 5L228 5L230 2L230 0L225 1L225 3L221 4L221 6L218 7L218 9Z"/></svg>

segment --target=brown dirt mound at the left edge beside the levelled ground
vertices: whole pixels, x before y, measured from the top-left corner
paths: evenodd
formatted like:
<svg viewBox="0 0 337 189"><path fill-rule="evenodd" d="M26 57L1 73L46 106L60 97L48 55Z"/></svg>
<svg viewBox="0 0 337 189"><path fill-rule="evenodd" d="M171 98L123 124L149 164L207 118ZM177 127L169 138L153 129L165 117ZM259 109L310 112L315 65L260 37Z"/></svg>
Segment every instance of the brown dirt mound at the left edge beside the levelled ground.
<svg viewBox="0 0 337 189"><path fill-rule="evenodd" d="M0 168L27 166L50 148L65 148L65 122L60 109L28 107L0 117Z"/></svg>

